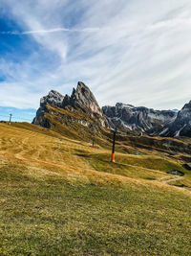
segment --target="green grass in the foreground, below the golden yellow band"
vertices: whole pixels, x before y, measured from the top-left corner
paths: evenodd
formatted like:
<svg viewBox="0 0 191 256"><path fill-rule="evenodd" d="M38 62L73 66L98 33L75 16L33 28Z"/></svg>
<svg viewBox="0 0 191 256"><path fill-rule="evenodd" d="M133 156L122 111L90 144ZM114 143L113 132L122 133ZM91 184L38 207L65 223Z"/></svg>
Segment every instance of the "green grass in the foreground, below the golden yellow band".
<svg viewBox="0 0 191 256"><path fill-rule="evenodd" d="M0 169L0 255L190 255L190 197Z"/></svg>

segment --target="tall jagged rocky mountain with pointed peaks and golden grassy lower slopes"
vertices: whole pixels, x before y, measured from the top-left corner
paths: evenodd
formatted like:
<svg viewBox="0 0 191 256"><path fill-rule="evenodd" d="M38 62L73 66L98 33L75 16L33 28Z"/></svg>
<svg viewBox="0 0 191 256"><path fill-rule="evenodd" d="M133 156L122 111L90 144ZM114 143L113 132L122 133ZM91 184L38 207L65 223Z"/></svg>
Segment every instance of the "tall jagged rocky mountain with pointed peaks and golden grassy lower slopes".
<svg viewBox="0 0 191 256"><path fill-rule="evenodd" d="M90 137L91 134L101 133L102 128L109 127L94 94L82 81L78 81L71 96L63 96L52 90L41 98L32 124L60 133L73 132L75 137Z"/></svg>

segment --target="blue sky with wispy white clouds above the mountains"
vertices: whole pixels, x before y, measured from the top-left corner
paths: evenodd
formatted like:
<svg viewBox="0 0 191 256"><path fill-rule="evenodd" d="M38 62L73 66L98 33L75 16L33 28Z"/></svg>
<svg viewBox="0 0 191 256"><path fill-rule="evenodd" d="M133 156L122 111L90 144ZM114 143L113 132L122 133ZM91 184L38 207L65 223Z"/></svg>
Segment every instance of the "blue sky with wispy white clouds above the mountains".
<svg viewBox="0 0 191 256"><path fill-rule="evenodd" d="M0 120L84 81L100 106L191 100L190 0L1 0Z"/></svg>

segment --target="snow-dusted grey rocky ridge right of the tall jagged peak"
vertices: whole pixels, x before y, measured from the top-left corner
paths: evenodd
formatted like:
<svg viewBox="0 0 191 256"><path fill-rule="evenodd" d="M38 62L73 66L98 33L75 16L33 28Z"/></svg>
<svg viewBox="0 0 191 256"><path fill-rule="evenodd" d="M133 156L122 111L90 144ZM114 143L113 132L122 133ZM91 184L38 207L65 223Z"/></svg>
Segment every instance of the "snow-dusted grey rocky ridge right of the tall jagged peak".
<svg viewBox="0 0 191 256"><path fill-rule="evenodd" d="M117 103L116 106L103 106L102 111L110 126L128 132L158 134L161 129L177 117L172 110L154 110L145 106Z"/></svg>

